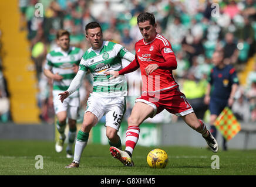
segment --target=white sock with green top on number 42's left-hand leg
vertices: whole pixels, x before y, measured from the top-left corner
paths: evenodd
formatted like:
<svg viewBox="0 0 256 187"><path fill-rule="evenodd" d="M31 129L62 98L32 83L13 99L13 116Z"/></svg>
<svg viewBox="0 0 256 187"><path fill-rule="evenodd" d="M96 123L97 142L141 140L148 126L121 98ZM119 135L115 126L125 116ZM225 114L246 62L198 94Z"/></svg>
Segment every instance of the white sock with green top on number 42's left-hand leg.
<svg viewBox="0 0 256 187"><path fill-rule="evenodd" d="M89 133L85 133L82 130L79 130L78 137L76 138L73 162L76 162L76 163L80 162L80 157L83 153L83 150L85 149L85 147L87 145L88 138L89 138Z"/></svg>

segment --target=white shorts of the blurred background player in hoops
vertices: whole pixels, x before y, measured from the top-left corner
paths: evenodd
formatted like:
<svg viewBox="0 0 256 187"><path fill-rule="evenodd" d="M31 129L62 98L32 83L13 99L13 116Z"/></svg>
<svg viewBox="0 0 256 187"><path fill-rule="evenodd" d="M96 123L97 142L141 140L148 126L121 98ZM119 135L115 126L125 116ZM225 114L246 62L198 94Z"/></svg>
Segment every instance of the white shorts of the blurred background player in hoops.
<svg viewBox="0 0 256 187"><path fill-rule="evenodd" d="M79 117L79 105L80 105L80 100L79 97L72 98L68 96L63 103L59 100L59 93L63 91L53 91L53 106L55 110L55 114L66 111L67 116L70 119L78 119Z"/></svg>

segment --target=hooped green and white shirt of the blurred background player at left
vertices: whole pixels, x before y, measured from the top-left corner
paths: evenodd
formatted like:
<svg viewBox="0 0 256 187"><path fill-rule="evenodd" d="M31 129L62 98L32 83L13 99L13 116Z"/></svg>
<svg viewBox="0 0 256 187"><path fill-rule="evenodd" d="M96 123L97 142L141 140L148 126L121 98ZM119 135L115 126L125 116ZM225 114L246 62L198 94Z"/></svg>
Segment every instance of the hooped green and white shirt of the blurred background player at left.
<svg viewBox="0 0 256 187"><path fill-rule="evenodd" d="M79 65L84 51L78 47L70 47L69 50L62 51L60 47L50 51L46 56L45 69L51 70L53 74L58 73L63 77L62 81L53 81L54 91L66 91L76 76L72 67L74 64ZM79 91L76 90L70 97L75 98L79 96Z"/></svg>

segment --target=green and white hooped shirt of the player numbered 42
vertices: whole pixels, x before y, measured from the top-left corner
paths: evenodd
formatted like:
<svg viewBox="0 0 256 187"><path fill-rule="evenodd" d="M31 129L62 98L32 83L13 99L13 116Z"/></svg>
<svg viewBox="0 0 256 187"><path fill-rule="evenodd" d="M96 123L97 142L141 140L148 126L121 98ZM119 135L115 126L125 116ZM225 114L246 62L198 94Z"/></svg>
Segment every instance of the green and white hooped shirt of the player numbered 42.
<svg viewBox="0 0 256 187"><path fill-rule="evenodd" d="M99 93L100 96L114 97L127 95L127 83L124 75L119 75L114 79L106 76L106 71L122 70L122 58L132 62L134 54L127 51L122 45L111 41L103 41L102 47L98 50L88 49L80 61L79 74L85 74L87 70L93 75L93 92ZM81 71L83 73L81 73ZM82 75L81 75L82 76ZM78 86L81 77L72 81L68 91L72 93ZM73 83L74 82L74 83ZM75 84L76 82L76 84Z"/></svg>

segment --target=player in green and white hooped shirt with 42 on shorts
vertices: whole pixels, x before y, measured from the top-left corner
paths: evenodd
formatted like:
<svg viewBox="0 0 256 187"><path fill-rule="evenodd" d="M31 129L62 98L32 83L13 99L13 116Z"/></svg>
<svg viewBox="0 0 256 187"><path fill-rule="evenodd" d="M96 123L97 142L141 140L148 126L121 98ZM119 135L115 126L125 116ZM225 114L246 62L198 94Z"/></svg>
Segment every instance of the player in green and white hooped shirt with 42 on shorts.
<svg viewBox="0 0 256 187"><path fill-rule="evenodd" d="M93 75L93 92L87 101L82 127L76 138L73 162L67 165L66 168L79 167L80 157L87 145L90 129L97 124L103 115L106 115L106 136L109 139L110 146L116 145L122 148L117 131L126 110L126 79L121 76L109 80L104 72L121 70L122 58L132 62L134 55L120 44L103 41L102 29L97 22L88 23L85 31L86 39L92 47L83 55L78 74L76 74L68 90L59 93L60 101L63 102L79 88L86 71L90 70Z"/></svg>

